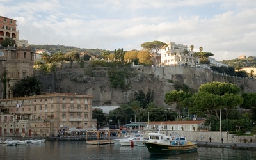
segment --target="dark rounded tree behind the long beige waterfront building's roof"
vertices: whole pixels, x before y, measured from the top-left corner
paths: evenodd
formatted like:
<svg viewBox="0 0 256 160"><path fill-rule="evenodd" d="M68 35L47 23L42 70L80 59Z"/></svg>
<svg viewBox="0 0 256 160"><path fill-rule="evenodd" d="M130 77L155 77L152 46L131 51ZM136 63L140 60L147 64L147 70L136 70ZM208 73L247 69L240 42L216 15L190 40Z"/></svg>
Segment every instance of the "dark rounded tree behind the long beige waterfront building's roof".
<svg viewBox="0 0 256 160"><path fill-rule="evenodd" d="M42 83L36 77L26 77L14 84L13 97L40 95Z"/></svg>

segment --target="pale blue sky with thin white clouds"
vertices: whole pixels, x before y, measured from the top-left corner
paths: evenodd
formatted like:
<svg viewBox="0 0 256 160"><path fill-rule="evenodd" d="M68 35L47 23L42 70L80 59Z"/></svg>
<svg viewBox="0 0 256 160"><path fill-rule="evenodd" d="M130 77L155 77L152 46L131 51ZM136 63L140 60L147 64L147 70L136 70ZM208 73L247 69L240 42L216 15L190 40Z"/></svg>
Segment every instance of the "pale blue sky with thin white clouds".
<svg viewBox="0 0 256 160"><path fill-rule="evenodd" d="M130 51L159 40L218 61L256 56L255 0L0 0L0 15L35 45Z"/></svg>

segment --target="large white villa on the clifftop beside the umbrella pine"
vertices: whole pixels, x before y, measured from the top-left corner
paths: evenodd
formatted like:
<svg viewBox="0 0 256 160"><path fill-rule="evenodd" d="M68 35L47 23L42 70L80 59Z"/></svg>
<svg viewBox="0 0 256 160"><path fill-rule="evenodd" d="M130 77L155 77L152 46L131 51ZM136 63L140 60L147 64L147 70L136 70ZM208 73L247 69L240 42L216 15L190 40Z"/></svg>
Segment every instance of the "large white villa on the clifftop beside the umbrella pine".
<svg viewBox="0 0 256 160"><path fill-rule="evenodd" d="M176 44L175 42L167 42L168 46L160 50L162 65L188 65L195 66L199 63L199 58L194 57L193 51L188 50L188 46L184 44ZM185 54L184 50L188 50Z"/></svg>

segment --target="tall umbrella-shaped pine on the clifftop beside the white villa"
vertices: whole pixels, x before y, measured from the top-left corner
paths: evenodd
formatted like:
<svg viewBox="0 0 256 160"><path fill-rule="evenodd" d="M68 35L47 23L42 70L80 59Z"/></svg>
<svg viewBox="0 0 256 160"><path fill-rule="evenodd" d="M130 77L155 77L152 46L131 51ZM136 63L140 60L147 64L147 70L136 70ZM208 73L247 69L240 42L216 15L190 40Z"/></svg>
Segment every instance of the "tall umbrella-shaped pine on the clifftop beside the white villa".
<svg viewBox="0 0 256 160"><path fill-rule="evenodd" d="M150 56L151 56L151 58L152 58L152 60L155 64L155 58L156 58L157 52L160 49L163 49L164 47L166 47L168 45L164 42L155 40L155 41L152 41L152 42L145 42L145 43L141 44L140 46L143 47L143 49L146 49L149 52L149 54L150 54Z"/></svg>

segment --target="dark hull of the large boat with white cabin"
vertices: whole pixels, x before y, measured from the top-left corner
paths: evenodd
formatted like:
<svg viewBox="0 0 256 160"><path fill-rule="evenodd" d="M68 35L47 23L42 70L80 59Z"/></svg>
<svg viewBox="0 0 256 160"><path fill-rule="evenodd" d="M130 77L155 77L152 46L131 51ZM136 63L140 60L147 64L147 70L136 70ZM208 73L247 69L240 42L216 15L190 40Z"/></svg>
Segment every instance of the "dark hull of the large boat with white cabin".
<svg viewBox="0 0 256 160"><path fill-rule="evenodd" d="M188 145L162 145L160 143L144 142L150 154L182 154L196 152L198 143L189 143Z"/></svg>

